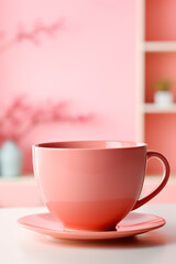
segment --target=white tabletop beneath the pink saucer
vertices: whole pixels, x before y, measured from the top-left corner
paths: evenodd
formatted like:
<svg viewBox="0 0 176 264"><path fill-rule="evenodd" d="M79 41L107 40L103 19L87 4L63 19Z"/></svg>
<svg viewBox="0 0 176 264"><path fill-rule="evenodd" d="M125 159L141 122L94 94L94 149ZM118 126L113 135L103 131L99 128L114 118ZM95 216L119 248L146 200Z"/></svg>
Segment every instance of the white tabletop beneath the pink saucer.
<svg viewBox="0 0 176 264"><path fill-rule="evenodd" d="M113 242L57 241L16 224L16 219L45 208L0 209L0 263L2 264L172 264L176 263L176 204L147 205L136 210L164 217L166 226Z"/></svg>

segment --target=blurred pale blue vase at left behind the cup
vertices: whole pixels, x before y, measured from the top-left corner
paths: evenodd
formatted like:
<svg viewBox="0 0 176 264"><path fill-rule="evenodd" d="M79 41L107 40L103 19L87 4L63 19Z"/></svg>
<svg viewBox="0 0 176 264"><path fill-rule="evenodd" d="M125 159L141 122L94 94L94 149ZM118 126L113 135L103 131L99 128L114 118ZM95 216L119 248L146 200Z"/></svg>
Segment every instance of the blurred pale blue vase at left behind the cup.
<svg viewBox="0 0 176 264"><path fill-rule="evenodd" d="M22 154L15 142L6 141L1 147L1 175L2 177L15 177L21 175Z"/></svg>

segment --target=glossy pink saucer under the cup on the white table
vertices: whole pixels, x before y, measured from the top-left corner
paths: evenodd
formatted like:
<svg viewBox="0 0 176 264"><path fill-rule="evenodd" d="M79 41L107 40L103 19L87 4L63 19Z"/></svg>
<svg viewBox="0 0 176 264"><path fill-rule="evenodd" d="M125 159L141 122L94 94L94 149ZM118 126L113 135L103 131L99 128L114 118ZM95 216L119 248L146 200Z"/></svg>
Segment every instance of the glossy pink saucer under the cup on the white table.
<svg viewBox="0 0 176 264"><path fill-rule="evenodd" d="M59 240L89 241L89 240L110 240L148 232L153 229L163 227L165 219L146 213L130 212L118 226L114 231L79 231L66 230L56 221L50 212L37 213L22 217L18 223L26 229L43 233Z"/></svg>

